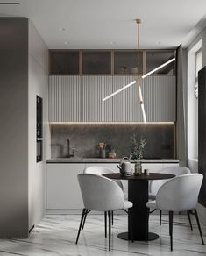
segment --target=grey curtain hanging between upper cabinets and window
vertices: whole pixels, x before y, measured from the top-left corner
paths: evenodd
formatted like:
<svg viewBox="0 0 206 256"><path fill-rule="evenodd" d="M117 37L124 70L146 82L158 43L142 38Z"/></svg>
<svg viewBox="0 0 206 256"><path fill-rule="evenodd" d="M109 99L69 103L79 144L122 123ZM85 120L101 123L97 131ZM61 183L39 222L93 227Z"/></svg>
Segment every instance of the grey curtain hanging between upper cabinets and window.
<svg viewBox="0 0 206 256"><path fill-rule="evenodd" d="M177 88L177 121L176 121L176 152L180 166L187 165L187 134L186 134L186 81L184 79L183 50L177 48L176 88Z"/></svg>

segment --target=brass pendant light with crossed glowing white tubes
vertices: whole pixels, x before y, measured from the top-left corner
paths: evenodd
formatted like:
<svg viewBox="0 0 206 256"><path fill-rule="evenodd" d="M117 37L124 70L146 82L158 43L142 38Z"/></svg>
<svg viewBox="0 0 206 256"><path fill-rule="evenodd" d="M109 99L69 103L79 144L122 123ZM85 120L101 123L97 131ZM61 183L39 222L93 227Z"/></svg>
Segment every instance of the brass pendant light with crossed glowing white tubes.
<svg viewBox="0 0 206 256"><path fill-rule="evenodd" d="M138 84L138 91L139 91L139 104L141 105L143 121L144 121L144 123L146 123L146 111L145 111L145 106L144 106L144 101L143 101L143 96L142 96L141 81L142 81L142 79L146 78L146 76L152 75L154 72L156 72L160 68L163 68L163 67L167 66L169 63L173 62L175 60L175 58L173 58L171 60L168 60L164 64L160 65L158 68L154 68L153 70L146 73L145 75L140 76L139 75L139 62L140 62L140 57L139 57L139 54L140 54L140 47L139 47L140 34L139 34L139 31L140 31L140 28L139 28L139 25L141 23L141 19L136 19L136 23L138 25L138 78L137 78L137 80L134 80L134 81L128 83L127 85L125 85L121 89L117 89L115 92L113 92L109 96L104 97L103 102L108 100L110 97L117 95L119 92L123 91L124 89L128 89L129 87L131 87L131 85L137 83Z"/></svg>

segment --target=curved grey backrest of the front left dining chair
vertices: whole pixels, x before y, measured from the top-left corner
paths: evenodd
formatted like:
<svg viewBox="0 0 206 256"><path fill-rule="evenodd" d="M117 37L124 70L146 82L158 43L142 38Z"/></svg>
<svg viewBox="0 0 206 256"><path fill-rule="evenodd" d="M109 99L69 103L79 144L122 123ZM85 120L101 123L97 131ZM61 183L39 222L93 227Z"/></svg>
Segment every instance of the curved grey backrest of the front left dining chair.
<svg viewBox="0 0 206 256"><path fill-rule="evenodd" d="M96 174L78 174L84 207L89 210L119 210L124 193L115 181Z"/></svg>

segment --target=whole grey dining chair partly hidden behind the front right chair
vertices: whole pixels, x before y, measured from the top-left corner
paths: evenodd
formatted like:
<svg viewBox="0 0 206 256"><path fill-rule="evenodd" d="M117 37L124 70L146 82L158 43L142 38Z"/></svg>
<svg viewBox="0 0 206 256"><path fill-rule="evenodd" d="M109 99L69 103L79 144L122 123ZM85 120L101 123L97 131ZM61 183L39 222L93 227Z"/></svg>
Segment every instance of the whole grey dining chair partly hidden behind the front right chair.
<svg viewBox="0 0 206 256"><path fill-rule="evenodd" d="M166 167L160 170L161 174L174 174L175 176L180 176L183 174L191 174L188 167ZM159 191L160 187L165 184L168 180L157 180L151 181L149 186L149 199L155 200L157 192ZM189 211L188 211L188 220L190 224L190 228L192 230L192 224L190 221ZM160 210L160 225L161 225L161 210Z"/></svg>

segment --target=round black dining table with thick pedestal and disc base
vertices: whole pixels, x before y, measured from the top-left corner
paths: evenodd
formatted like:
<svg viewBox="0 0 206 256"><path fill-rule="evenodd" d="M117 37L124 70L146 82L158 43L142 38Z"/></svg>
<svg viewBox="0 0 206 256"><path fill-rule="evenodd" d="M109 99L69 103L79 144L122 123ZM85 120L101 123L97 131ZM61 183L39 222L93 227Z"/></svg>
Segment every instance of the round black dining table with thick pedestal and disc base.
<svg viewBox="0 0 206 256"><path fill-rule="evenodd" d="M148 201L148 181L174 178L174 174L150 173L149 175L124 176L119 173L103 174L112 180L128 181L128 200L133 203L131 212L128 213L128 231L118 234L118 238L136 241L147 241L159 238L156 233L148 232L148 217L146 203ZM132 223L132 225L130 224Z"/></svg>

